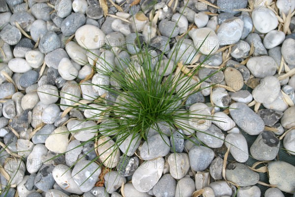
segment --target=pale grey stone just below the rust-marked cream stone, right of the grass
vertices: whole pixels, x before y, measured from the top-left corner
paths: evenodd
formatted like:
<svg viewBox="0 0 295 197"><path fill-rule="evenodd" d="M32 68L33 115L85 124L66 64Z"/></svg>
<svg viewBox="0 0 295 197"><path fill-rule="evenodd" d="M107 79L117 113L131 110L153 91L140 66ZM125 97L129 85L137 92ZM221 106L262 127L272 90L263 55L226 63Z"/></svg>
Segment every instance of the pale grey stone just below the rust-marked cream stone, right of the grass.
<svg viewBox="0 0 295 197"><path fill-rule="evenodd" d="M222 113L222 112L219 112L219 113ZM213 124L209 127L208 130L204 132L197 131L197 137L200 141L202 141L204 144L206 144L210 148L220 148L223 145L223 140L225 138L222 131Z"/></svg>

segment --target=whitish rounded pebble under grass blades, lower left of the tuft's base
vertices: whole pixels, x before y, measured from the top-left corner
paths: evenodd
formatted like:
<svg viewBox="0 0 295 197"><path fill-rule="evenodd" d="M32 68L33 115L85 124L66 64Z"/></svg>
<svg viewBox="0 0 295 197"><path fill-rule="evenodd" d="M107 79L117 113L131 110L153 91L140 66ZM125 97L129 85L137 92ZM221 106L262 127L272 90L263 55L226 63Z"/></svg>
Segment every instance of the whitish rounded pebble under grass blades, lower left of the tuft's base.
<svg viewBox="0 0 295 197"><path fill-rule="evenodd" d="M93 121L70 120L67 124L68 131L79 141L92 139L97 132L96 124Z"/></svg>

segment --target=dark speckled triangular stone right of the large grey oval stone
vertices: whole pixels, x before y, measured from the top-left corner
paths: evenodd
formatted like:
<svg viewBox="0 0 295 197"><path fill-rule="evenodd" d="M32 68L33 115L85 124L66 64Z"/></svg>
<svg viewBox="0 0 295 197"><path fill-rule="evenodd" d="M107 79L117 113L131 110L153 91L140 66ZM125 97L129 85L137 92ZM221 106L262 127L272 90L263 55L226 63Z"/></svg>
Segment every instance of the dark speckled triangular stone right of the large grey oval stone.
<svg viewBox="0 0 295 197"><path fill-rule="evenodd" d="M282 112L273 109L260 109L257 114L263 119L268 127L272 127L283 116Z"/></svg>

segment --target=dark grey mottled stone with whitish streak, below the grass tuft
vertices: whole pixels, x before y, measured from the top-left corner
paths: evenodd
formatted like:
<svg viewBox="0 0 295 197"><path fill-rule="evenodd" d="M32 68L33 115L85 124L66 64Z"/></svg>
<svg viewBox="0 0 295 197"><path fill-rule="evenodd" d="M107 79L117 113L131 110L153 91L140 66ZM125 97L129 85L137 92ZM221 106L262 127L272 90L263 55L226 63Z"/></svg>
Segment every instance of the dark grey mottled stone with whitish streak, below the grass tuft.
<svg viewBox="0 0 295 197"><path fill-rule="evenodd" d="M117 170L119 175L121 176L132 175L139 165L139 159L136 156L134 157L121 156L119 159L120 160L118 163Z"/></svg>

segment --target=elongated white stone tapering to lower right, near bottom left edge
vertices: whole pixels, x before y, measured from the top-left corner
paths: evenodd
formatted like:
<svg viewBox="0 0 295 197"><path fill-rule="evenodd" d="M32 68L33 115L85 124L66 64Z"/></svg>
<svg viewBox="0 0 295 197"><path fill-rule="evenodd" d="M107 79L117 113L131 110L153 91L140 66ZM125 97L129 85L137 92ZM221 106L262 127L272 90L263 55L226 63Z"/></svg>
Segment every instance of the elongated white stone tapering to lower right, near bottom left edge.
<svg viewBox="0 0 295 197"><path fill-rule="evenodd" d="M80 190L79 185L72 177L72 169L66 165L58 164L52 171L54 180L57 182L62 190L81 195L83 192Z"/></svg>

